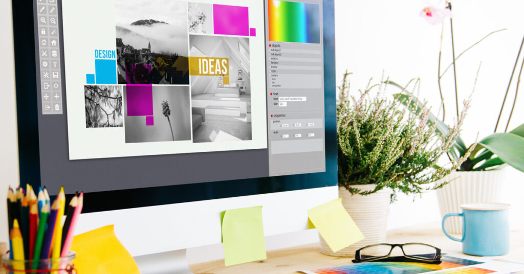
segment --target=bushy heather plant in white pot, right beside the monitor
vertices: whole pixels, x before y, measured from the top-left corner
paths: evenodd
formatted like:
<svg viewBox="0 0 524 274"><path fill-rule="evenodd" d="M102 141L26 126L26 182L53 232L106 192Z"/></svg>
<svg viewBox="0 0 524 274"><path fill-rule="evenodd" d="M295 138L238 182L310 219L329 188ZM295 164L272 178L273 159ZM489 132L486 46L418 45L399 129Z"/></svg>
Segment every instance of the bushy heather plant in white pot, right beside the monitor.
<svg viewBox="0 0 524 274"><path fill-rule="evenodd" d="M385 242L389 204L397 192L431 189L431 183L459 168L467 156L436 167L459 135L465 111L454 127L441 133L429 120L428 109L407 111L401 97L385 95L384 82L350 96L348 75L337 103L339 195L365 239L335 254L321 237L321 251L350 257L358 248ZM464 109L468 106L464 102Z"/></svg>

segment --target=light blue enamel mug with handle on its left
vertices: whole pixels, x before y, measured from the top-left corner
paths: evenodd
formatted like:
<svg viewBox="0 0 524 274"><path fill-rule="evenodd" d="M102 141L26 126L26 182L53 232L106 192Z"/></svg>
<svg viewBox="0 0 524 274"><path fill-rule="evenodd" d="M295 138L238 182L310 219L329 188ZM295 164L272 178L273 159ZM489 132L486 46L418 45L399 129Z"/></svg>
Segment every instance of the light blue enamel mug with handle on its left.
<svg viewBox="0 0 524 274"><path fill-rule="evenodd" d="M442 219L442 230L452 240L462 242L462 252L474 256L502 256L509 252L509 204L480 203L461 205L462 213L449 213ZM462 239L446 232L448 217L462 217Z"/></svg>

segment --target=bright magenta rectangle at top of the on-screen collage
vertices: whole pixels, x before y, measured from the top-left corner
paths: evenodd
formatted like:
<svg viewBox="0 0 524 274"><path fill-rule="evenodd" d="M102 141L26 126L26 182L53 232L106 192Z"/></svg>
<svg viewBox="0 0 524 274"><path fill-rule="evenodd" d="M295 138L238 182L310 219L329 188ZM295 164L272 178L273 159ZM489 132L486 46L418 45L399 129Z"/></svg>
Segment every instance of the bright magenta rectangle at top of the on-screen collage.
<svg viewBox="0 0 524 274"><path fill-rule="evenodd" d="M213 4L214 34L249 36L247 7Z"/></svg>

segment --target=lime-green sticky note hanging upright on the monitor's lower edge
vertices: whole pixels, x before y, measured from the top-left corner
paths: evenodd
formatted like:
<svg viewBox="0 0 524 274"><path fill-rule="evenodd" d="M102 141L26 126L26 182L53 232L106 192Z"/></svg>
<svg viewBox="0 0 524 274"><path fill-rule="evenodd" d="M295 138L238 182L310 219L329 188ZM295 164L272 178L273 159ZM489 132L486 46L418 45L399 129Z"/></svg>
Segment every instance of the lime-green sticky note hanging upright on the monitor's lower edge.
<svg viewBox="0 0 524 274"><path fill-rule="evenodd" d="M226 266L266 259L262 206L225 211L222 240Z"/></svg>

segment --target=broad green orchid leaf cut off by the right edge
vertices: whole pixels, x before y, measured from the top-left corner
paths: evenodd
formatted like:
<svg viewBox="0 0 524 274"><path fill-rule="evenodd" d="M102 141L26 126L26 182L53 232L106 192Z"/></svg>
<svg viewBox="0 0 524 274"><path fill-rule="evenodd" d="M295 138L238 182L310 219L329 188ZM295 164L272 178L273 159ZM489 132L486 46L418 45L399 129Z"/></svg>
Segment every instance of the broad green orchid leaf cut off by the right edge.
<svg viewBox="0 0 524 274"><path fill-rule="evenodd" d="M489 149L508 165L524 172L524 137L496 133L482 139L478 146Z"/></svg>

